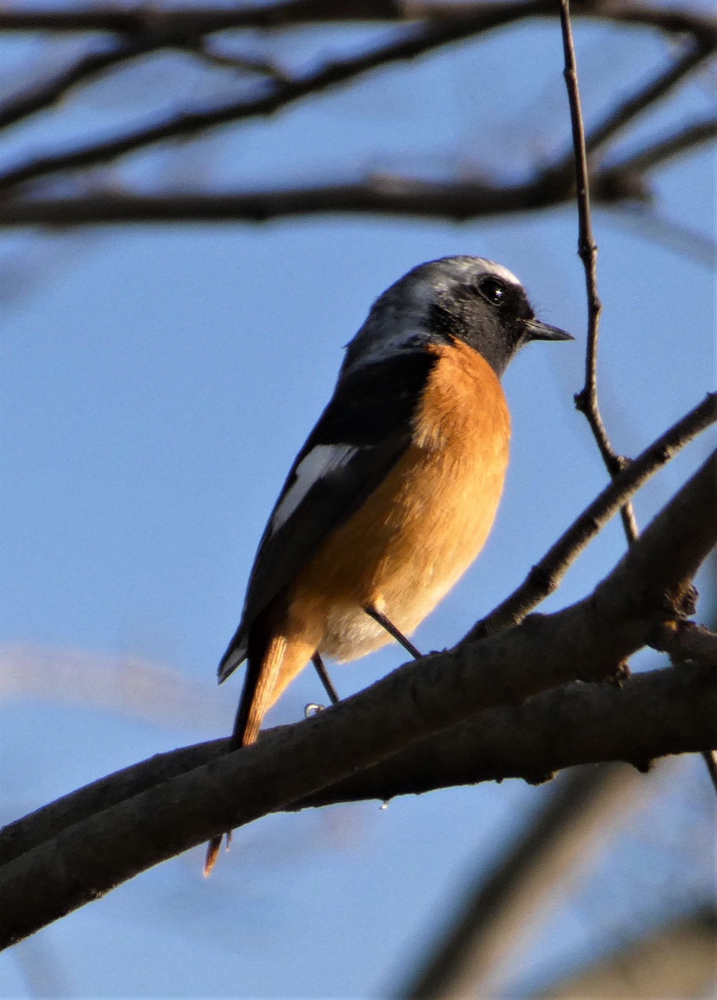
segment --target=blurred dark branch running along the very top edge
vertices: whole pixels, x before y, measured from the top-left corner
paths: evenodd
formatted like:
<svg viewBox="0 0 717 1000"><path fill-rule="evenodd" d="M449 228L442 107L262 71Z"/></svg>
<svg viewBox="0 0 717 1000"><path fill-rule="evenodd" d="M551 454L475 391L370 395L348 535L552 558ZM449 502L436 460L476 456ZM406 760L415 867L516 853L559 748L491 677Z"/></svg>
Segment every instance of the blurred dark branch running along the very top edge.
<svg viewBox="0 0 717 1000"><path fill-rule="evenodd" d="M350 21L449 20L467 16L491 18L497 7L510 21L526 17L554 17L555 5L546 0L529 2L444 2L444 0L288 0L241 7L128 8L97 4L58 10L49 7L3 9L0 31L144 33L157 26L165 30L206 35L232 28L291 28L295 25ZM669 34L706 38L717 30L717 19L699 8L640 3L635 0L583 0L576 15L657 28ZM506 22L507 23L507 22ZM479 29L478 29L479 30Z"/></svg>

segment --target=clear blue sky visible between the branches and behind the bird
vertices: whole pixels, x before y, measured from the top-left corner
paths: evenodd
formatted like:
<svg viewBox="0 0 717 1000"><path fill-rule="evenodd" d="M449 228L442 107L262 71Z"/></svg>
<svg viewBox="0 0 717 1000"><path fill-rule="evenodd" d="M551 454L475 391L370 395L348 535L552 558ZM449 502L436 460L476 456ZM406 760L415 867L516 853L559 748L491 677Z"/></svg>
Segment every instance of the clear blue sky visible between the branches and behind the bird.
<svg viewBox="0 0 717 1000"><path fill-rule="evenodd" d="M366 34L332 32L322 52ZM313 38L271 44L300 65ZM589 120L669 51L638 30L581 25L577 41ZM2 45L7 65L31 48ZM567 141L560 59L556 25L490 36L270 122L222 130L190 149L192 169L207 183L241 187L370 170L497 170L507 157L510 176L521 176ZM70 98L63 115L39 116L7 144L3 162L100 135L110 115L143 120L153 111L145 93L159 94L158 106L173 96L203 101L223 80L203 90L188 61L165 57L138 72L121 100L104 84ZM709 78L685 86L647 131L706 111L709 96ZM625 148L636 142L626 138ZM135 157L122 176L180 186L180 156ZM660 209L708 233L713 167L702 151L662 171ZM605 213L595 230L602 405L616 447L630 454L713 388L713 275ZM154 752L228 732L239 685L217 689L214 671L267 514L331 392L342 345L376 295L423 260L497 260L523 280L542 318L578 337L531 345L509 369L512 458L493 533L416 643L449 645L521 581L605 483L572 405L585 329L576 238L572 208L465 225L335 217L0 234L1 638L8 662L25 657L3 711L4 818ZM707 437L693 444L640 494L641 524L708 447ZM616 522L546 606L588 593L623 547ZM90 674L95 664L95 691L90 683L71 704L53 678L67 676L59 667L78 651ZM132 660L156 665L186 693L184 721L167 720L152 690L143 692L149 722L127 707L121 685L116 708L99 705ZM388 648L333 677L348 694L401 661ZM72 670L62 683L72 684ZM300 718L320 694L305 672L268 721ZM547 945L516 963L522 991L590 954L606 927L619 937L708 891L704 855L684 849L688 830L709 818L707 782L696 761L674 774L654 781L629 836L600 845L604 855L596 849L588 881L552 916ZM236 836L208 882L201 851L149 871L2 956L0 983L17 997L386 995L451 912L466 871L487 869L547 794L507 782L383 811L369 803L267 818ZM665 855L684 891L664 884ZM623 892L610 882L615 870L627 872ZM50 986L33 993L43 963Z"/></svg>

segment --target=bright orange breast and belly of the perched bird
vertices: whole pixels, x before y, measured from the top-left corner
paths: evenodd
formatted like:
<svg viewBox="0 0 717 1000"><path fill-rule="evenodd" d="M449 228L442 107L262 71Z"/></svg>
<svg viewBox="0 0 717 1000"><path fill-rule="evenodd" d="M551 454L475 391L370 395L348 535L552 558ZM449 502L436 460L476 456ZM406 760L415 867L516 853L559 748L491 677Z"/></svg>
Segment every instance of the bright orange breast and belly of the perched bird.
<svg viewBox="0 0 717 1000"><path fill-rule="evenodd" d="M389 641L367 604L410 634L473 562L495 517L510 440L503 390L462 342L433 350L413 443L291 590L289 631L316 637L336 659Z"/></svg>

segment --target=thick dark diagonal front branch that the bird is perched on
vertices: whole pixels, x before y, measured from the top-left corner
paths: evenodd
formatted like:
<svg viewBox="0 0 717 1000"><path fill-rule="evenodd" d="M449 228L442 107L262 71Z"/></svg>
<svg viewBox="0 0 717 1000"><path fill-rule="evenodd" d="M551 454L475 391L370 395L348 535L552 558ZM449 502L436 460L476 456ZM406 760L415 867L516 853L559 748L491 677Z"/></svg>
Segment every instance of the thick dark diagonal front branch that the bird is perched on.
<svg viewBox="0 0 717 1000"><path fill-rule="evenodd" d="M578 604L405 664L331 709L164 781L4 865L0 944L486 709L575 679L624 677L625 658L661 623L681 617L684 581L717 542L716 477L717 451Z"/></svg>

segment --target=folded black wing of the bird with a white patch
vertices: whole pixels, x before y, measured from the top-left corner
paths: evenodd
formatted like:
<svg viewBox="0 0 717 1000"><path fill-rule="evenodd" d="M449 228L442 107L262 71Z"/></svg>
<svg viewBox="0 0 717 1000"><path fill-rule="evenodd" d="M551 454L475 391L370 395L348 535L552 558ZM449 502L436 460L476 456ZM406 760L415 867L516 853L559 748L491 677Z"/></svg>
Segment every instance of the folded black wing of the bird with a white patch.
<svg viewBox="0 0 717 1000"><path fill-rule="evenodd" d="M246 658L252 622L404 453L414 410L435 361L436 356L425 351L404 353L339 380L264 529L241 622L219 664L220 681Z"/></svg>

